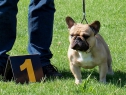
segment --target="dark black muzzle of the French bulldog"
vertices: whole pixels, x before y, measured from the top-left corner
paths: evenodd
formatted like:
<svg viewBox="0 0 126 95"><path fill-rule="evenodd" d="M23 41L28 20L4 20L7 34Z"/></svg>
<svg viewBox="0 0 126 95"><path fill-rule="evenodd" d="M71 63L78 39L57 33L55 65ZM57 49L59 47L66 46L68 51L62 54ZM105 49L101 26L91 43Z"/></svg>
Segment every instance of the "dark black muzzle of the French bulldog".
<svg viewBox="0 0 126 95"><path fill-rule="evenodd" d="M71 48L74 50L86 52L89 49L89 44L86 40L82 41L81 39L77 39L72 42Z"/></svg>

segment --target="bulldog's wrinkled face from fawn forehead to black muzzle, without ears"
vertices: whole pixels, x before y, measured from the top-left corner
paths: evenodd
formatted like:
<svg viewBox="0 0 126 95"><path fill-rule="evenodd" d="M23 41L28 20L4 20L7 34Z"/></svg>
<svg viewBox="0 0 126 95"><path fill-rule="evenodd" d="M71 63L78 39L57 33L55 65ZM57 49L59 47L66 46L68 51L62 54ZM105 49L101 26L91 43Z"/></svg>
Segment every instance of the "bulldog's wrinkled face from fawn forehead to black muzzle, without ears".
<svg viewBox="0 0 126 95"><path fill-rule="evenodd" d="M87 33L85 26L78 24L71 28L70 31L70 41L71 48L79 51L87 51L89 49L89 44L87 39L91 36L90 33Z"/></svg>

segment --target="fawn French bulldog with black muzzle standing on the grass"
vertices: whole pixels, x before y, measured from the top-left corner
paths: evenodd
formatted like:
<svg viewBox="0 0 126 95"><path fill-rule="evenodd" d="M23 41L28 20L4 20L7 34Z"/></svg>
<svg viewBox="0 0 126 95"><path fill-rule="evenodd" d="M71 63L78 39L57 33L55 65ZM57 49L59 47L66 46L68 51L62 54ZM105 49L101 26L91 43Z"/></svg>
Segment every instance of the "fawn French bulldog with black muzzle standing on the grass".
<svg viewBox="0 0 126 95"><path fill-rule="evenodd" d="M82 82L81 70L92 69L99 66L100 82L106 83L106 74L113 75L111 66L112 58L108 45L103 37L98 34L100 22L92 24L75 23L71 17L66 17L69 29L68 59L70 70L75 77L75 83Z"/></svg>

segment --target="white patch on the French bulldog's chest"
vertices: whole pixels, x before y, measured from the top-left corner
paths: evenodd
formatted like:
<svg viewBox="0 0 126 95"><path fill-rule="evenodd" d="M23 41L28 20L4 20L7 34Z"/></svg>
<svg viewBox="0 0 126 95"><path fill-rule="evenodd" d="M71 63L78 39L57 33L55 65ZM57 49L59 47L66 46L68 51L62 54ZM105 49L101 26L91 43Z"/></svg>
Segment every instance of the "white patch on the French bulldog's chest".
<svg viewBox="0 0 126 95"><path fill-rule="evenodd" d="M79 58L77 59L82 66L93 66L93 58L91 53L85 53L79 51Z"/></svg>

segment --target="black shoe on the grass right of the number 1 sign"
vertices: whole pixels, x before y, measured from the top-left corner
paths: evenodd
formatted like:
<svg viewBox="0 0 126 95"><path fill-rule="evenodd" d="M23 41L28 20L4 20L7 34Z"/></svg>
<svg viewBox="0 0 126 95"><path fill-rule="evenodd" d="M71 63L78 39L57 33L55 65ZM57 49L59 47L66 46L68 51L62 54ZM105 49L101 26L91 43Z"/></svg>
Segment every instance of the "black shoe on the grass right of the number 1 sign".
<svg viewBox="0 0 126 95"><path fill-rule="evenodd" d="M42 69L46 77L61 77L62 76L62 74L58 72L57 68L51 64L42 67Z"/></svg>

